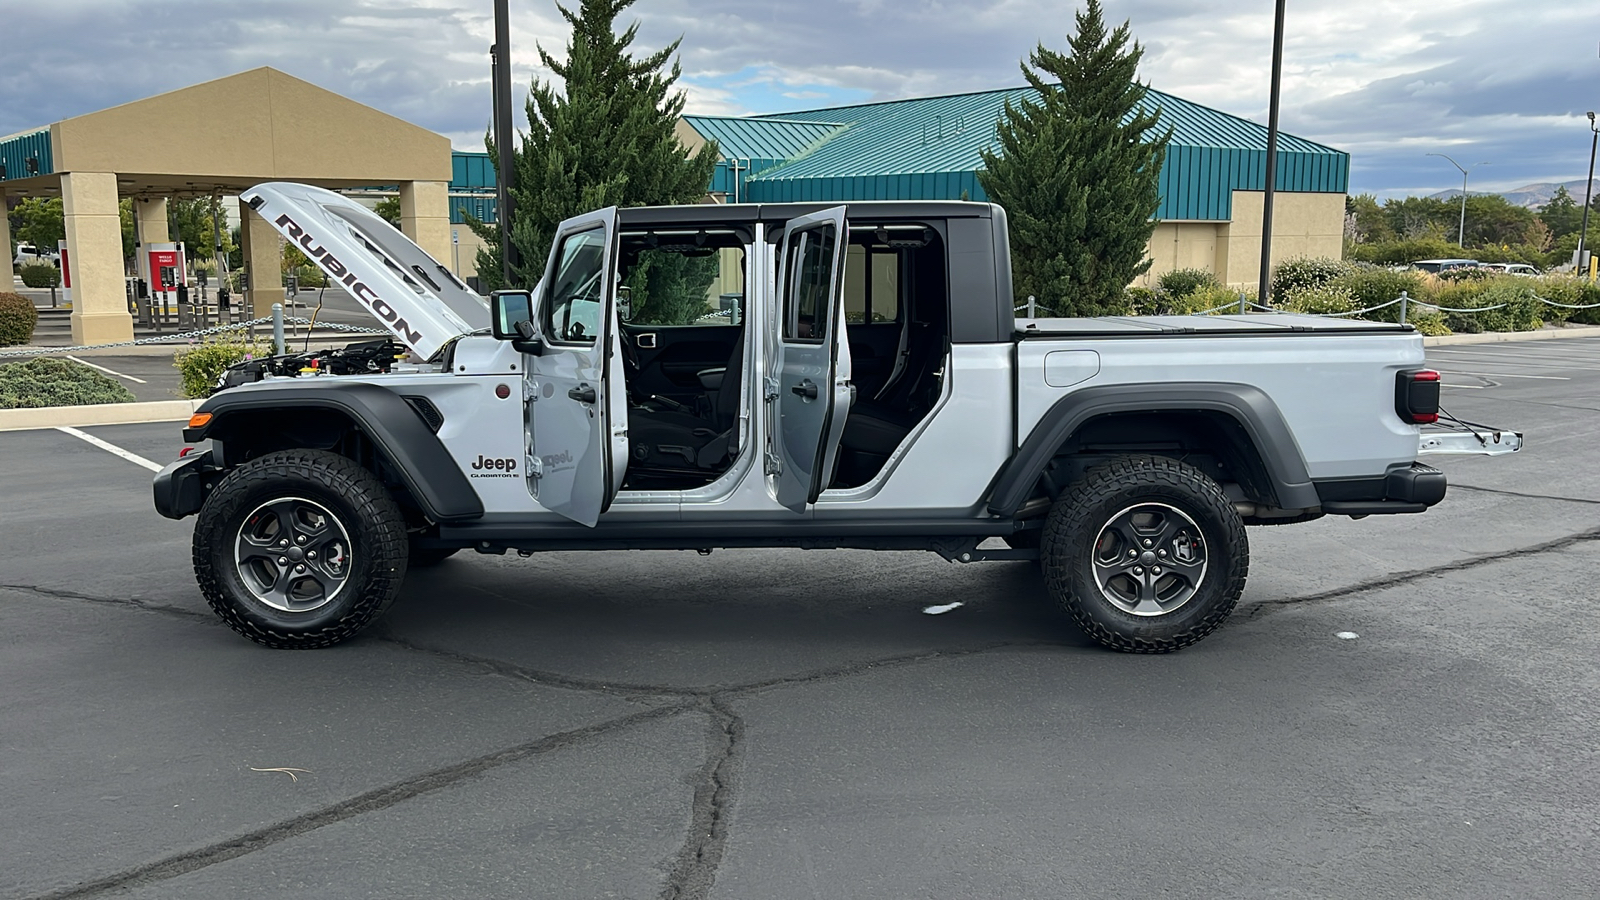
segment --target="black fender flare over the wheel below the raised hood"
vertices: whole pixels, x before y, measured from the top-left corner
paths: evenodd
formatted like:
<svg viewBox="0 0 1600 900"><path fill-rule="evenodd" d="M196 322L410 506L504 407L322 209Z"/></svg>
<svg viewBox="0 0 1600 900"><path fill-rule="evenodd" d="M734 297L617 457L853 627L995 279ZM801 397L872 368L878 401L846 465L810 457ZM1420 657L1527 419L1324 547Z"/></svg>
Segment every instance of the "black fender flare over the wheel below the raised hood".
<svg viewBox="0 0 1600 900"><path fill-rule="evenodd" d="M198 428L186 428L184 440L226 440L230 423L253 412L320 408L344 413L378 445L400 472L422 512L435 522L462 522L483 516L483 500L472 482L410 404L394 391L365 381L328 384L296 383L283 389L235 388L213 394L195 415L211 413Z"/></svg>

